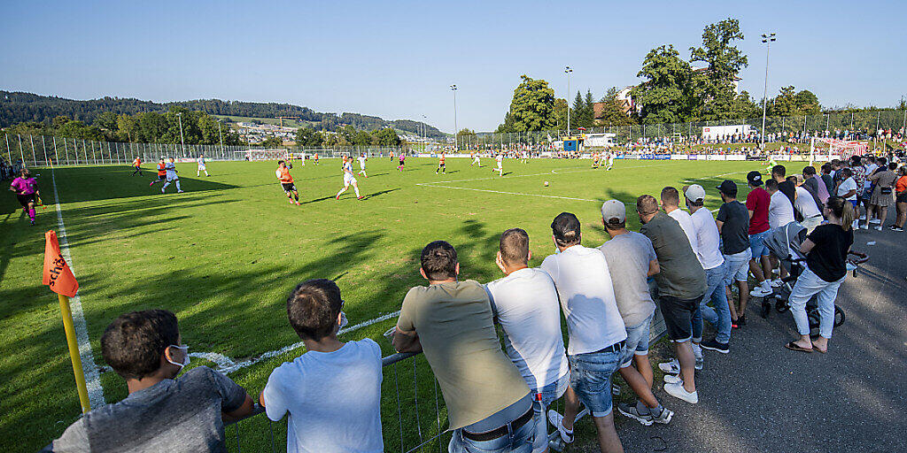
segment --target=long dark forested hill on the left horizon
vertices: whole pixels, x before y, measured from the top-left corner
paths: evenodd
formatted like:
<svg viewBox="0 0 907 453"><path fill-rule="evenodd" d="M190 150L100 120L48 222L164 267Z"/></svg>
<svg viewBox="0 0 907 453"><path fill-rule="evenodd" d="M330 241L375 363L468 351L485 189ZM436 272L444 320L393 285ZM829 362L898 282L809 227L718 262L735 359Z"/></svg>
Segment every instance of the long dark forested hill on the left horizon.
<svg viewBox="0 0 907 453"><path fill-rule="evenodd" d="M220 101L219 99L152 102L132 98L103 97L89 101L75 101L56 96L40 96L30 92L0 91L0 128L5 128L24 121L49 123L57 116L72 120L82 120L91 124L104 111L134 115L143 111L167 111L171 106L185 107L192 111L203 111L211 115L245 116L256 118L275 118L278 116L295 116L300 120L314 123L317 130L336 130L346 124L356 129L375 130L393 127L414 134L422 132L429 137L442 138L444 134L431 125L414 120L384 120L376 116L359 113L322 113L307 107L277 102L243 102Z"/></svg>

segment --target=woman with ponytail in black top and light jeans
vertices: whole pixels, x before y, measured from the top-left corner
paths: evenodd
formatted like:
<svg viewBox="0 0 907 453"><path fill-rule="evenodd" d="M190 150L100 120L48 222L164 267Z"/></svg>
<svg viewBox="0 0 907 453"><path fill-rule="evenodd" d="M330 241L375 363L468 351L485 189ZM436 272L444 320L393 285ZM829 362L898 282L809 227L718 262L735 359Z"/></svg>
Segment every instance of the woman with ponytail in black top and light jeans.
<svg viewBox="0 0 907 453"><path fill-rule="evenodd" d="M827 352L828 339L834 327L834 299L847 273L846 257L853 246L853 204L842 197L830 197L823 214L828 223L816 226L800 246L806 255L806 269L797 278L789 303L800 338L785 344L785 348L802 352ZM806 302L817 295L819 308L819 337L809 338Z"/></svg>

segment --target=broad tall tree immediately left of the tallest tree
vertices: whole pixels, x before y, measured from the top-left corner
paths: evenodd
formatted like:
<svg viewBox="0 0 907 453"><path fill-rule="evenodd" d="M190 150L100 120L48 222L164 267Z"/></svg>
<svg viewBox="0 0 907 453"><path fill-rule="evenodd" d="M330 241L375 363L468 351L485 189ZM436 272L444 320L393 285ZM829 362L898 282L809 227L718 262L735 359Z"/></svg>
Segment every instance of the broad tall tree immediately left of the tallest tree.
<svg viewBox="0 0 907 453"><path fill-rule="evenodd" d="M673 45L652 49L642 62L638 77L646 79L630 91L642 106L643 123L682 122L690 119L693 99L692 70Z"/></svg>

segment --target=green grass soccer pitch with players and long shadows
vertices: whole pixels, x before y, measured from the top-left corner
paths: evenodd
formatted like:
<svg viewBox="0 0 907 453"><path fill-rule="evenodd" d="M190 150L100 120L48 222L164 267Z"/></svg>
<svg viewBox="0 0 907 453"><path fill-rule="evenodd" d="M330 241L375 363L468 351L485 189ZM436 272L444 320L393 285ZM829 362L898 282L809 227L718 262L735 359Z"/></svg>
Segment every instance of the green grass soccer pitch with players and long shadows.
<svg viewBox="0 0 907 453"><path fill-rule="evenodd" d="M131 176L126 166L54 170L63 222L73 258L94 361L108 402L126 396L121 378L103 365L100 338L120 313L165 308L177 314L192 364L230 365L229 376L256 399L268 373L302 353L286 348L299 339L290 328L286 296L297 283L316 277L336 280L346 300L349 327L342 339L375 339L394 325L406 291L424 284L419 252L444 239L456 247L461 278L481 283L500 278L494 265L498 238L510 227L531 237L531 265L553 253L551 219L570 211L582 222L583 244L599 246L606 235L600 206L610 198L634 204L642 194L698 183L706 206L716 209L715 188L732 178L746 197L746 171L764 162L615 160L614 169L590 169L590 160L504 161L471 167L470 159L447 159L447 174L435 175L437 159L407 159L403 173L389 159L369 159L369 178L357 177L363 200L342 187L337 159L308 161L292 169L302 206L289 204L274 176L274 162L210 162L210 178L196 178L194 164L178 164L185 193L161 195L149 188L151 170ZM805 163L792 162L789 172ZM148 167L148 164L146 164ZM358 170L354 164L354 171ZM29 226L13 194L0 199L0 450L34 451L58 437L79 414L73 372L56 297L41 284L44 231L59 229L50 169L34 169L42 198L38 225ZM544 181L550 185L544 186ZM628 226L639 219L628 207ZM382 317L384 319L382 319ZM377 318L377 320L376 320ZM283 352L280 352L280 351ZM218 355L211 355L218 354ZM265 358L261 359L262 354ZM399 387L411 399L414 375L427 375L424 359L400 367ZM399 433L395 376L385 368L384 430L388 450L415 429L434 433L434 408L420 408L422 425L403 414ZM395 369L394 372L397 370ZM432 400L429 379L419 398ZM439 397L440 398L440 397ZM431 409L431 410L429 410ZM412 412L412 411L410 411ZM444 411L440 424L446 427ZM425 420L428 420L427 422ZM228 436L235 436L235 427ZM257 417L240 424L241 445L269 442L268 424ZM275 424L278 449L285 441ZM426 435L425 437L429 437ZM235 438L230 440L234 444ZM407 442L408 443L408 442ZM435 446L435 448L437 448ZM261 448L264 449L264 448Z"/></svg>

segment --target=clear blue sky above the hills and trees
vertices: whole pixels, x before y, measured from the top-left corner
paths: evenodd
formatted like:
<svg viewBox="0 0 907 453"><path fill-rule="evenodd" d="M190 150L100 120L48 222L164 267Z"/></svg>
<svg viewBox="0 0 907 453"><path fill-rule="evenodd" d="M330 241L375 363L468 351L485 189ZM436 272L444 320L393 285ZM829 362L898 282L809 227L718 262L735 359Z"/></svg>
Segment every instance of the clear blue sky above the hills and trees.
<svg viewBox="0 0 907 453"><path fill-rule="evenodd" d="M285 101L316 111L493 130L520 75L567 91L638 82L650 49L688 58L705 25L740 20L742 88L795 85L823 105L907 94L902 2L8 2L0 89L74 99Z"/></svg>

